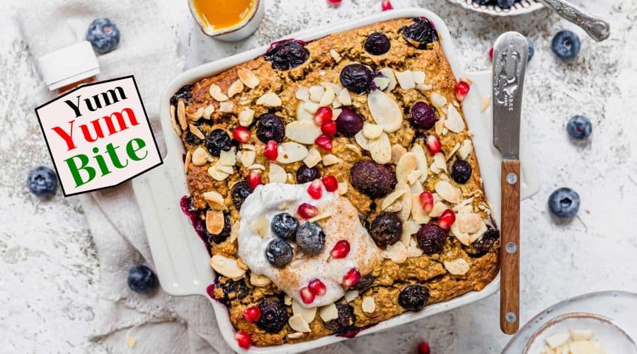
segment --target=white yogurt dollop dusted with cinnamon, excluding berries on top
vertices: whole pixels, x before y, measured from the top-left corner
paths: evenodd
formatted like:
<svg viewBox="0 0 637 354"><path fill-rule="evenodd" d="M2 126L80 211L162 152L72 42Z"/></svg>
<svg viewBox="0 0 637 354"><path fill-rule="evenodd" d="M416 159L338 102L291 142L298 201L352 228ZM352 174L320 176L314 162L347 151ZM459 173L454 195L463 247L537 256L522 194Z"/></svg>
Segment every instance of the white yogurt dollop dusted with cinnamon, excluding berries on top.
<svg viewBox="0 0 637 354"><path fill-rule="evenodd" d="M258 186L241 206L238 254L253 273L270 278L289 297L303 307L311 308L331 304L343 297L345 289L341 283L345 273L352 268L357 268L361 275L370 273L380 259L381 250L361 224L358 211L350 200L328 192L322 185L321 199L313 199L307 193L308 185L269 183ZM288 212L299 219L299 224L303 224L306 220L297 215L297 208L304 202L317 207L319 215L330 215L318 221L326 235L325 246L316 256L307 256L292 241L292 262L284 268L276 268L265 258L268 243L277 237L270 229L272 217ZM255 229L253 222L263 217L268 221L268 227ZM350 243L350 252L345 258L331 258L330 251L336 242L343 239ZM300 290L314 279L326 285L326 293L317 296L311 304L304 304Z"/></svg>

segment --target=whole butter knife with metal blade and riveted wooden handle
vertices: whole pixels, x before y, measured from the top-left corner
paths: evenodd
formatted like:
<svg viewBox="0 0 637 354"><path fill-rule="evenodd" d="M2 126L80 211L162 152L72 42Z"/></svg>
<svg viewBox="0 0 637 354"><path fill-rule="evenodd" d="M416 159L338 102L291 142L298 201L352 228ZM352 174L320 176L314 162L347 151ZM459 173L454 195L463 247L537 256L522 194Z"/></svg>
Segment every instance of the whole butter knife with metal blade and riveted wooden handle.
<svg viewBox="0 0 637 354"><path fill-rule="evenodd" d="M520 112L529 45L517 32L493 46L493 145L502 153L500 329L520 326Z"/></svg>

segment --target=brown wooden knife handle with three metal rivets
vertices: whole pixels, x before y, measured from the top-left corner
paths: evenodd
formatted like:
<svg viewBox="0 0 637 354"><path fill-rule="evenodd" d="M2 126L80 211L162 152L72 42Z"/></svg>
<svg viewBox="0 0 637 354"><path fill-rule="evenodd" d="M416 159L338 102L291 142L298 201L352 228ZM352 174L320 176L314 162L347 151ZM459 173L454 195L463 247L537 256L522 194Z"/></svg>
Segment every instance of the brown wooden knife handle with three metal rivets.
<svg viewBox="0 0 637 354"><path fill-rule="evenodd" d="M504 160L500 230L500 329L520 326L520 161Z"/></svg>

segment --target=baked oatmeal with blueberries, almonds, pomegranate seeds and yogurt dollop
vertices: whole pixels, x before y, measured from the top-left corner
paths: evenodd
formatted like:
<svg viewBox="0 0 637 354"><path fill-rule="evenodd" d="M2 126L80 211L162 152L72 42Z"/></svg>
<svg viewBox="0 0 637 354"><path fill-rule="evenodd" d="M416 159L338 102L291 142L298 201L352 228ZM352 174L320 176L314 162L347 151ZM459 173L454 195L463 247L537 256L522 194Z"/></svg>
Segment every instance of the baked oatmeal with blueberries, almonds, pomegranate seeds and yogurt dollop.
<svg viewBox="0 0 637 354"><path fill-rule="evenodd" d="M242 345L352 336L495 278L469 84L402 18L274 43L173 96L184 206Z"/></svg>

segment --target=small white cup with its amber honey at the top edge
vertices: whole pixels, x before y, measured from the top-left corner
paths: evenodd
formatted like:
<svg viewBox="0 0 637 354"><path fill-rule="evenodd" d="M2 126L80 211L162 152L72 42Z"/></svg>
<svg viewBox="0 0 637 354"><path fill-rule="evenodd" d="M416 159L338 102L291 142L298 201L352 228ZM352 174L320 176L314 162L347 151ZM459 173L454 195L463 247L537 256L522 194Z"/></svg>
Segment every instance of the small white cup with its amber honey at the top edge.
<svg viewBox="0 0 637 354"><path fill-rule="evenodd" d="M265 0L188 0L190 12L206 35L226 41L251 35L261 23Z"/></svg>

